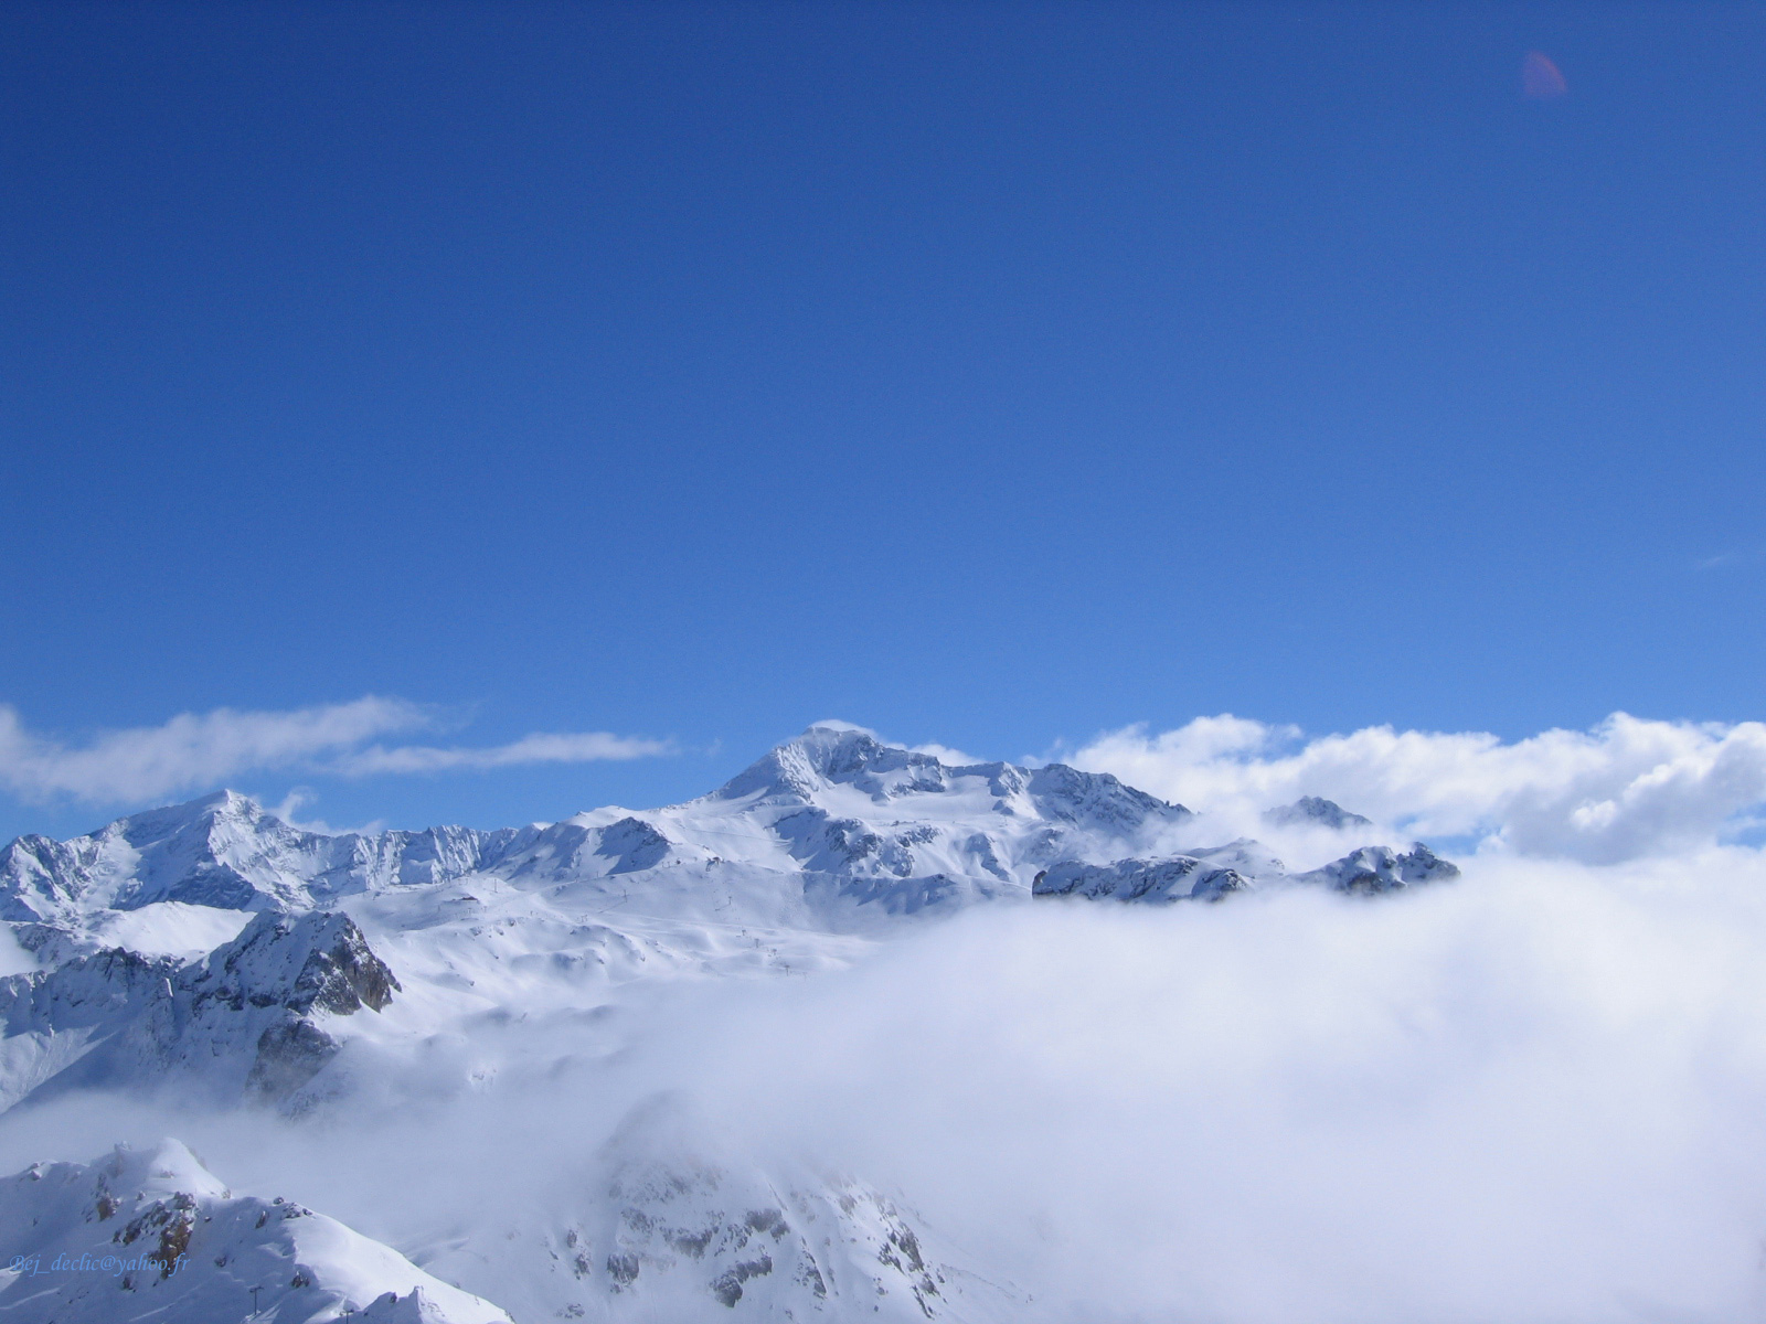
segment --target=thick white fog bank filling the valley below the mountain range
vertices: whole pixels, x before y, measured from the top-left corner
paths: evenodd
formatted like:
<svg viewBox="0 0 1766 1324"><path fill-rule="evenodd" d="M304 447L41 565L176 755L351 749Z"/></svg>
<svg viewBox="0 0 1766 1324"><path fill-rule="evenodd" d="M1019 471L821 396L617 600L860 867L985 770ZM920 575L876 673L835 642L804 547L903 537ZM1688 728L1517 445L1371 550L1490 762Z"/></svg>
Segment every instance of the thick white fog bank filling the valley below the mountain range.
<svg viewBox="0 0 1766 1324"><path fill-rule="evenodd" d="M477 1017L337 1125L58 1102L0 1121L0 1170L170 1132L404 1250L482 1229L494 1252L599 1207L625 1110L685 1091L713 1160L807 1156L902 1195L1035 1294L1026 1324L1766 1308L1755 851L1483 858L1377 902L977 907L848 971L604 1012Z"/></svg>

